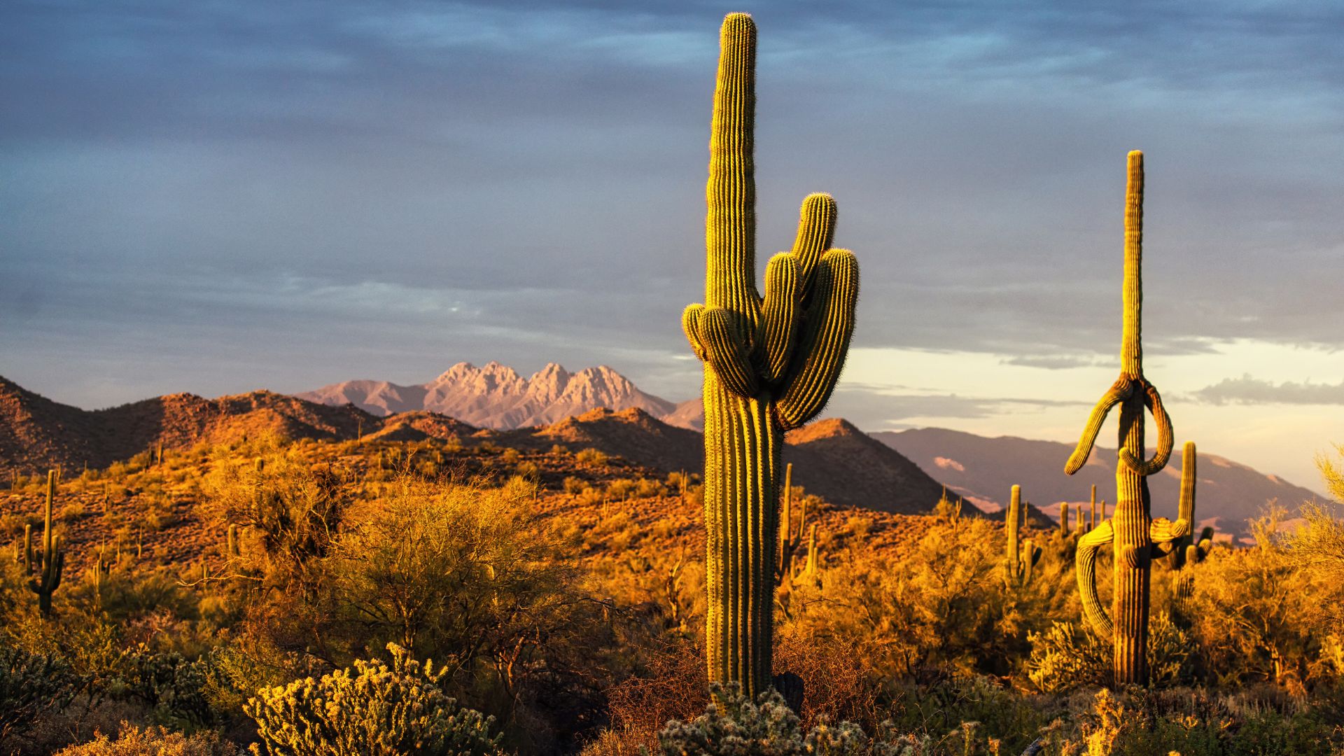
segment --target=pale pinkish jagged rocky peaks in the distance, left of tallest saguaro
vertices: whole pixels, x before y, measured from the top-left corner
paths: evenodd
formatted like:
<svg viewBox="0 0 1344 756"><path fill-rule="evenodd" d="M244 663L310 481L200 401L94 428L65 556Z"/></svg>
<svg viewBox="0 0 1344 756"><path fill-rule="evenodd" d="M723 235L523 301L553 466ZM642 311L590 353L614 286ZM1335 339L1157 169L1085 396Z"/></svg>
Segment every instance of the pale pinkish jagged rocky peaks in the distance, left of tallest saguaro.
<svg viewBox="0 0 1344 756"><path fill-rule="evenodd" d="M348 402L378 416L438 412L501 430L550 425L597 408L642 409L673 425L694 426L677 417L680 405L641 391L605 365L570 373L552 362L531 378L523 378L497 362L482 367L460 362L429 383L399 386L387 381L345 381L296 395L325 405Z"/></svg>

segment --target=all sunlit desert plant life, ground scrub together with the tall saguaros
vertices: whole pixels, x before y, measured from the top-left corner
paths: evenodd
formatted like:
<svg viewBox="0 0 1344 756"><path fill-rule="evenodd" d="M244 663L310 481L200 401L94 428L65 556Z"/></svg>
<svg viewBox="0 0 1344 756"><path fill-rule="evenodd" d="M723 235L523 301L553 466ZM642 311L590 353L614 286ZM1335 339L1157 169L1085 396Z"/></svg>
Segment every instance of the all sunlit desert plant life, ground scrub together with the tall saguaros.
<svg viewBox="0 0 1344 756"><path fill-rule="evenodd" d="M1267 502L1235 546L1195 535L1187 443L1177 517L1153 517L1175 433L1141 362L1142 155L1121 377L1060 460L1120 406L1113 515L1095 487L1058 525L1019 486L993 515L946 491L926 515L836 506L782 449L839 379L857 264L809 195L757 292L751 19L720 43L706 301L683 317L703 475L355 414L353 440L15 475L0 751L1344 753L1340 461L1318 460L1335 500Z"/></svg>

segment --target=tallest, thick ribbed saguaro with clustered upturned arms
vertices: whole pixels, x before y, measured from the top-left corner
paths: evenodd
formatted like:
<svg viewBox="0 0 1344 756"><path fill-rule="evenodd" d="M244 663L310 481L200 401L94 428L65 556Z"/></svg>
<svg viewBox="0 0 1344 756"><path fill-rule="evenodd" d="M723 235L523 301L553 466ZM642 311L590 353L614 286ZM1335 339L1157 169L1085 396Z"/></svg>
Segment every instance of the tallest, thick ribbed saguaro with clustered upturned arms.
<svg viewBox="0 0 1344 756"><path fill-rule="evenodd" d="M836 203L802 202L793 252L755 287L755 42L751 16L720 31L710 133L704 304L681 326L704 362L704 523L710 681L755 695L771 685L780 449L840 377L859 297L859 265L831 249Z"/></svg>

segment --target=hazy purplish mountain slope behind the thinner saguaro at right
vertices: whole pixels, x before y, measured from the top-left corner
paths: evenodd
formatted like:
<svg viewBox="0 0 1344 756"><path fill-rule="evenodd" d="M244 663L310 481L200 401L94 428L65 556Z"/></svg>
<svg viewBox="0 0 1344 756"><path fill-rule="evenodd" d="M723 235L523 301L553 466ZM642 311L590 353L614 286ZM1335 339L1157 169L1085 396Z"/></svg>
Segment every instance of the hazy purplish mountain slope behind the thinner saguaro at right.
<svg viewBox="0 0 1344 756"><path fill-rule="evenodd" d="M1097 447L1087 464L1077 475L1067 476L1063 474L1064 460L1073 453L1073 445L1058 441L1012 436L986 439L942 428L883 432L872 437L981 506L1001 506L1013 483L1020 484L1024 494L1051 517L1058 517L1059 502L1086 502L1093 484L1097 486L1098 499L1114 504L1116 449ZM1180 468L1177 451L1161 474L1148 479L1154 515L1175 515L1180 498ZM1257 517L1270 499L1294 507L1316 496L1278 476L1203 449L1198 469L1196 517L1224 531L1245 533L1246 521Z"/></svg>

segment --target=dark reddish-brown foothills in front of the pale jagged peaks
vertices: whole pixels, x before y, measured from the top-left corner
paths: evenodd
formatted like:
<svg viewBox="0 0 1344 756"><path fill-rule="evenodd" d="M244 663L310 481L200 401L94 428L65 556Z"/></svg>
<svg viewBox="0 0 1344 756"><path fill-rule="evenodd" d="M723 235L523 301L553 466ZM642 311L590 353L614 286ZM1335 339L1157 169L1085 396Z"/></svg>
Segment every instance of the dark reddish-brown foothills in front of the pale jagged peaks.
<svg viewBox="0 0 1344 756"><path fill-rule="evenodd" d="M317 441L458 439L528 451L559 444L570 451L595 448L663 474L699 474L704 453L700 433L668 425L638 408L599 408L554 424L492 430L434 412L378 417L351 405L328 406L270 391L216 400L172 394L90 412L9 382L0 389L0 475L58 465L67 471L86 464L105 468L159 443L187 449L263 434ZM918 514L929 511L942 492L942 484L918 465L844 420L790 433L784 460L794 463L794 484L840 506Z"/></svg>

